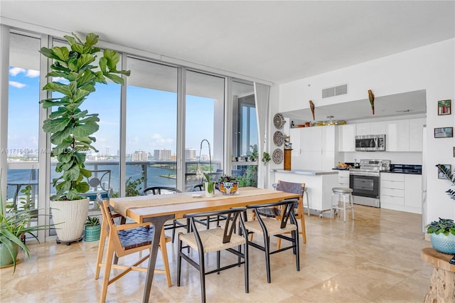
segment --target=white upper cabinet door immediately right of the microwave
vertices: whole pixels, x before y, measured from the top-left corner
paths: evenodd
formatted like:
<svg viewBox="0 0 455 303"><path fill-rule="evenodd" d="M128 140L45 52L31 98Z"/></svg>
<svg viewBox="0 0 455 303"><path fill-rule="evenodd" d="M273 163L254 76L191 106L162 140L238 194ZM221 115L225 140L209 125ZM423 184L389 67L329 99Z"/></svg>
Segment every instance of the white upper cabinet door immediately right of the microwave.
<svg viewBox="0 0 455 303"><path fill-rule="evenodd" d="M386 122L385 133L386 151L409 151L410 150L410 120L392 120Z"/></svg>

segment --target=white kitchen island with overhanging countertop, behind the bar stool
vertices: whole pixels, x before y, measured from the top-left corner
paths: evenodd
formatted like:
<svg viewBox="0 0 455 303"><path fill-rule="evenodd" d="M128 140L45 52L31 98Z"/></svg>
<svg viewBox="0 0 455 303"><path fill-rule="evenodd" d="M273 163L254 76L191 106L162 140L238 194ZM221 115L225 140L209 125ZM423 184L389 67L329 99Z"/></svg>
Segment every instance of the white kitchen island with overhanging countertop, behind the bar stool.
<svg viewBox="0 0 455 303"><path fill-rule="evenodd" d="M314 171L305 169L271 169L274 172L274 182L281 181L304 183L308 193L308 203L311 210L323 216L324 211L330 211L332 188L338 187L338 171ZM304 196L306 199L306 196ZM306 202L306 201L305 201Z"/></svg>

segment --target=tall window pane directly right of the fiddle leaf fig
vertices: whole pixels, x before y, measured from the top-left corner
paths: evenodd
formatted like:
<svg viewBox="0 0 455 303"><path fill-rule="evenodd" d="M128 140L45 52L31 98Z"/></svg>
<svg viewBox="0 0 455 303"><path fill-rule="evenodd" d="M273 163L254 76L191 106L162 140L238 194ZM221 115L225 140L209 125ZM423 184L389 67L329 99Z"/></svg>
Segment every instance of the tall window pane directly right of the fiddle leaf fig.
<svg viewBox="0 0 455 303"><path fill-rule="evenodd" d="M126 195L146 186L176 187L176 67L128 58Z"/></svg>

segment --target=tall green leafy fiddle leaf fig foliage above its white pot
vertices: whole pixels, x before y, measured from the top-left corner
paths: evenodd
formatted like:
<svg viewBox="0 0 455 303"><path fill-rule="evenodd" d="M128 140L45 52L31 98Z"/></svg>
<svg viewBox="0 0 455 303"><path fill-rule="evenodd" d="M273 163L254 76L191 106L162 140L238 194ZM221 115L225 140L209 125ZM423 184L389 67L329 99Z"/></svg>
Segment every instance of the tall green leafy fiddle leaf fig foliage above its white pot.
<svg viewBox="0 0 455 303"><path fill-rule="evenodd" d="M129 70L117 70L120 55L115 50L103 50L96 47L99 36L88 33L85 42L78 36L65 36L67 46L41 48L40 53L53 60L47 78L53 81L43 90L52 92L52 97L41 100L44 109L52 109L43 122L44 132L50 134L53 149L50 156L57 158L55 171L60 173L53 179L57 193L51 200L78 200L79 193L89 190L84 181L91 172L85 169L85 156L90 151L97 152L92 145L96 138L100 121L98 114L89 114L82 110L82 103L90 93L95 92L97 83L107 84L107 79L117 84L124 84L122 75L129 76ZM64 80L62 80L64 79Z"/></svg>

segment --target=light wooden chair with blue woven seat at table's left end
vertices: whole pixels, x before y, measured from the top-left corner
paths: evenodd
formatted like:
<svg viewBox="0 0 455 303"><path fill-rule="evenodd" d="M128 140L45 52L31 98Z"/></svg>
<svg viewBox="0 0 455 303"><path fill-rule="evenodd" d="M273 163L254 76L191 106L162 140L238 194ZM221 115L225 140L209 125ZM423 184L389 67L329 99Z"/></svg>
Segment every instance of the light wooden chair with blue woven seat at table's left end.
<svg viewBox="0 0 455 303"><path fill-rule="evenodd" d="M114 216L109 208L109 202L100 202L100 209L102 213L102 225L100 234L100 245L98 246L97 253L97 268L95 271L95 280L100 276L100 268L105 267L105 275L103 277L102 292L100 302L105 302L107 287L119 278L126 275L128 272L134 270L139 272L147 272L146 267L139 267L142 262L149 259L151 250L151 241L154 235L154 226L149 223L125 223L116 225L114 223ZM119 215L117 215L119 216ZM102 262L103 252L105 250L105 241L107 240L106 260ZM155 272L166 274L166 282L168 287L171 287L171 274L169 272L168 254L166 250L166 243L170 242L171 238L165 237L164 232L161 233L159 249L164 263L164 270L155 270ZM114 262L114 257L124 257L131 255L134 252L141 252L142 250L149 250L149 254L141 257L133 265L119 265ZM118 275L110 278L111 268L123 270Z"/></svg>

